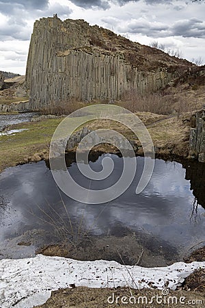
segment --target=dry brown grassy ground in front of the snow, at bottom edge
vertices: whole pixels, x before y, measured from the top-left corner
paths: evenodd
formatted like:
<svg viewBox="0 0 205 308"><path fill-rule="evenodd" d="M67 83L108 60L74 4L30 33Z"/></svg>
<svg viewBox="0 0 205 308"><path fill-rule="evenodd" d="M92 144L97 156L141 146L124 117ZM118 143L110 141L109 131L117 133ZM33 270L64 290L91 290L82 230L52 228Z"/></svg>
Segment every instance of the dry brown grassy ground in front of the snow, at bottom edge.
<svg viewBox="0 0 205 308"><path fill-rule="evenodd" d="M74 282L73 282L74 283ZM113 284L113 283L112 283ZM125 282L126 285L126 282ZM151 300L152 296L161 296L161 291L160 290L150 290L150 289L144 289L144 290L135 290L131 289L129 287L119 287L119 288L114 288L111 289L111 287L107 287L104 289L94 289L94 288L89 288L89 287L74 287L73 289L65 289L65 290L58 290L52 292L51 298L47 300L44 305L38 306L42 308L61 308L61 307L69 307L69 308L105 308L105 307L110 307L110 308L120 308L120 307L128 307L128 308L133 308L133 307L139 307L139 308L148 308L148 307L153 307L153 308L161 308L161 307L168 307L167 305L164 305L162 303L156 303L156 300L150 304L146 305L145 303L140 303L139 304L131 304L128 303L127 305L124 305L120 302L119 303L113 303L109 304L107 302L107 298L109 296L112 296L114 293L115 298L117 296L120 296L120 300L122 296L127 296L128 298L130 296L135 296L138 298L139 296L147 296L149 300ZM202 300L202 303L204 303L205 297L202 293L199 292L186 292L184 290L178 290L178 291L169 291L169 296L176 296L178 299L181 296L184 296L186 298L186 303L188 300ZM178 300L179 301L179 300ZM189 307L204 307L202 306L203 304L200 305L192 305L190 304ZM180 303L172 305L172 307L176 308L181 308L187 305L182 305ZM171 307L171 306L170 306Z"/></svg>

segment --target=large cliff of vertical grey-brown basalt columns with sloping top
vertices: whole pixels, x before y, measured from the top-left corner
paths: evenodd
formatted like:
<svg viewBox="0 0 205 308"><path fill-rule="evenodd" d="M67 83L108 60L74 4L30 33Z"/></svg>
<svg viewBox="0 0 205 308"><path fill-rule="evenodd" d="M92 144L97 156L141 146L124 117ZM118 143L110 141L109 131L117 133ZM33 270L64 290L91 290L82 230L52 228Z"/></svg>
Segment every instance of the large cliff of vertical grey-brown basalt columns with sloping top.
<svg viewBox="0 0 205 308"><path fill-rule="evenodd" d="M55 16L34 24L26 84L35 110L70 98L118 100L128 90L156 91L190 67L107 29Z"/></svg>

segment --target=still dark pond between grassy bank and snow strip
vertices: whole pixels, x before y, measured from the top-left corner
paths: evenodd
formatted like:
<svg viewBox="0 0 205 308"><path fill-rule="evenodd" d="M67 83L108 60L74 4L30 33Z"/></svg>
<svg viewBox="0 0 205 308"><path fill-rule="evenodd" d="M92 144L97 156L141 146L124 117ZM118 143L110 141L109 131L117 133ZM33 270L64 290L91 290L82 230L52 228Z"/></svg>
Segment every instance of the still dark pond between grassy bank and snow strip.
<svg viewBox="0 0 205 308"><path fill-rule="evenodd" d="M96 154L90 157L89 164L101 170L107 155L113 159L114 169L106 180L86 181L73 155L66 157L68 170L85 187L101 189L112 185L122 172L122 157ZM203 246L204 164L156 159L150 183L137 195L143 157L136 159L137 175L131 186L122 196L103 205L85 205L59 192L46 162L6 169L0 175L0 258L29 257L40 246L66 238L74 241L81 233L104 239L135 234L141 245L144 242L146 248L152 247L151 251L157 247L158 251L168 251L168 255L172 251L178 256L175 260L182 260L193 246Z"/></svg>

